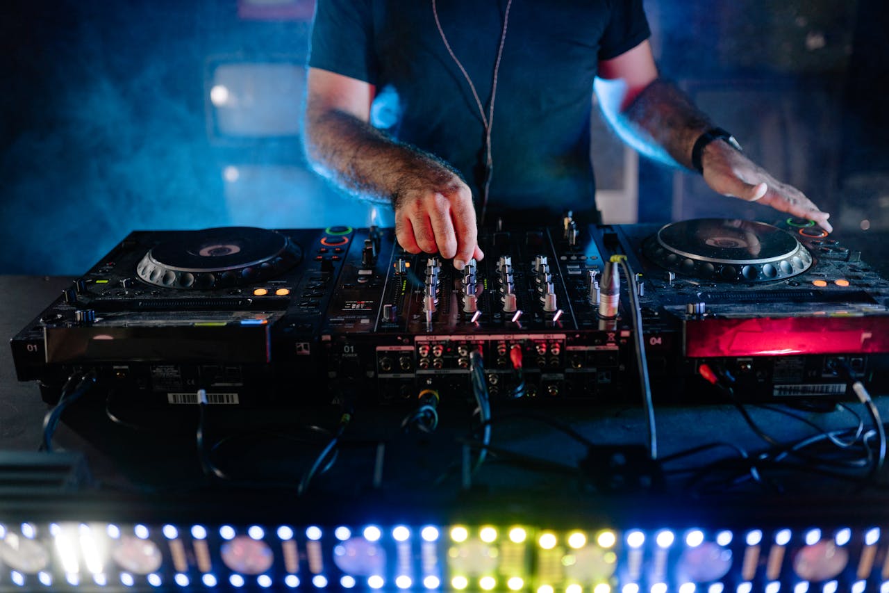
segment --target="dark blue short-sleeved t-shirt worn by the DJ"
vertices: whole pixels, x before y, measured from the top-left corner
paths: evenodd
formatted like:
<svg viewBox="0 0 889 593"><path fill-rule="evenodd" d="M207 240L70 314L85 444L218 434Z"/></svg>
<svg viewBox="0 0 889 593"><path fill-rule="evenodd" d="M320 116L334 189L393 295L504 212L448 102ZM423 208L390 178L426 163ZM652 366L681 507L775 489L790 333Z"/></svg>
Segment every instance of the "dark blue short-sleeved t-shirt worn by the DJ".
<svg viewBox="0 0 889 593"><path fill-rule="evenodd" d="M485 114L506 4L436 3ZM648 36L642 0L513 0L494 103L489 220L501 209L595 209L589 118L598 61ZM482 195L484 126L431 0L318 0L308 63L376 85L373 119L444 158Z"/></svg>

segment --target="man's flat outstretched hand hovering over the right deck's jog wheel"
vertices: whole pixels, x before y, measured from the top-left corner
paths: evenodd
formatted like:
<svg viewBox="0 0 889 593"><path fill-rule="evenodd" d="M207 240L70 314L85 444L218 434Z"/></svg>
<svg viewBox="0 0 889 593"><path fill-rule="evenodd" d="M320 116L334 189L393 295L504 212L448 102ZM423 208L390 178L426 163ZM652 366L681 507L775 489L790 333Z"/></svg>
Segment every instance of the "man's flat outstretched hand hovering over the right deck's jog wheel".
<svg viewBox="0 0 889 593"><path fill-rule="evenodd" d="M749 202L758 201L789 215L813 220L827 232L833 231L828 222L830 215L821 212L802 191L779 182L727 142L710 142L701 155L701 165L704 181L713 191Z"/></svg>

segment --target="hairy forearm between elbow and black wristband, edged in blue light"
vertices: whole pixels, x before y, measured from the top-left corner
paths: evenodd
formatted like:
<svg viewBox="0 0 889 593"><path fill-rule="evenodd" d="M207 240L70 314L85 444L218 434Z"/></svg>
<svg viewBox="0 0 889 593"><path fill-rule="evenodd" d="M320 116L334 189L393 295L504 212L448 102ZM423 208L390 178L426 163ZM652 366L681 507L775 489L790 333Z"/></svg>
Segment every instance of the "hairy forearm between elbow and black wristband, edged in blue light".
<svg viewBox="0 0 889 593"><path fill-rule="evenodd" d="M618 134L637 150L686 168L692 168L694 142L712 127L707 115L685 93L661 78L646 86L623 110L604 101L603 111Z"/></svg>

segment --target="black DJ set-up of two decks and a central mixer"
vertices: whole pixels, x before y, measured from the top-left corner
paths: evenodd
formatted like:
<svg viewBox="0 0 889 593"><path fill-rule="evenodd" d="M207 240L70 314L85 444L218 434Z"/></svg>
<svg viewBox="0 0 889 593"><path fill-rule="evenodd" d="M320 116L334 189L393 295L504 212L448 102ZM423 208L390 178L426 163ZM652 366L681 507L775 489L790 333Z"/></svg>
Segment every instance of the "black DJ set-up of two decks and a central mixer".
<svg viewBox="0 0 889 593"><path fill-rule="evenodd" d="M132 232L12 339L58 400L92 372L133 405L851 397L889 367L889 281L810 221L483 228L462 271L390 229ZM637 327L635 320L641 321ZM471 356L472 353L480 354ZM705 379L709 379L709 382Z"/></svg>

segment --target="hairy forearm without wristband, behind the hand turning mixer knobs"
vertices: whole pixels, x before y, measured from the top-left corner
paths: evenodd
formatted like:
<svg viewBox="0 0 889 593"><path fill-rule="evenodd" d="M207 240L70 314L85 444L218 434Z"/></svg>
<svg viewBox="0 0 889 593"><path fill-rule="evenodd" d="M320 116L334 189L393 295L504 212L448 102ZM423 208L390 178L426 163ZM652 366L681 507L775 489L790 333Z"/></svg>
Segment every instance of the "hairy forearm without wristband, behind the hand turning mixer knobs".
<svg viewBox="0 0 889 593"><path fill-rule="evenodd" d="M441 159L342 111L310 107L306 131L306 153L316 171L361 199L395 204L410 191L446 189L459 179Z"/></svg>

